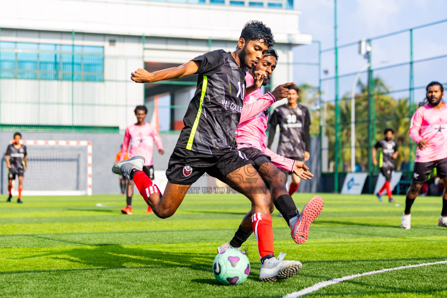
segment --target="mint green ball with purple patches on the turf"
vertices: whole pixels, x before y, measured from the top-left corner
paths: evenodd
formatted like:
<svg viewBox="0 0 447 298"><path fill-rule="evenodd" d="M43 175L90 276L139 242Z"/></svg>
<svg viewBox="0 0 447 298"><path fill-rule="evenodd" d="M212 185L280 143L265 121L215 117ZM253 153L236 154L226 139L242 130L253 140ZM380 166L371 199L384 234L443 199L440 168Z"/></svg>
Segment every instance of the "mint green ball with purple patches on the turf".
<svg viewBox="0 0 447 298"><path fill-rule="evenodd" d="M250 262L245 253L228 248L217 254L213 262L214 277L223 285L240 285L250 273Z"/></svg>

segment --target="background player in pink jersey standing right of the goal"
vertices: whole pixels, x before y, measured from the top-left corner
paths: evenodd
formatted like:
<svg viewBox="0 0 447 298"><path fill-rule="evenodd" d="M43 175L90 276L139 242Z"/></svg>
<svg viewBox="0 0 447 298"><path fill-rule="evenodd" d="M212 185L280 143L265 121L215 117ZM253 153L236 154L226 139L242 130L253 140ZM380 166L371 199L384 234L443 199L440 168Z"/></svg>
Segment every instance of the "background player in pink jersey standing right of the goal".
<svg viewBox="0 0 447 298"><path fill-rule="evenodd" d="M120 160L127 159L126 153L129 147L129 158L134 156L143 156L145 158L143 172L148 177L154 179L154 162L152 151L154 143L157 146L158 153L164 154L163 144L161 143L160 135L157 130L148 122L144 121L148 109L144 105L139 105L135 108L135 116L137 117L137 123L127 126L126 134L124 134L124 141L121 147ZM121 209L124 214L132 214L132 196L134 194L134 180L129 180L127 185L127 206ZM148 206L146 213L153 213L151 206Z"/></svg>

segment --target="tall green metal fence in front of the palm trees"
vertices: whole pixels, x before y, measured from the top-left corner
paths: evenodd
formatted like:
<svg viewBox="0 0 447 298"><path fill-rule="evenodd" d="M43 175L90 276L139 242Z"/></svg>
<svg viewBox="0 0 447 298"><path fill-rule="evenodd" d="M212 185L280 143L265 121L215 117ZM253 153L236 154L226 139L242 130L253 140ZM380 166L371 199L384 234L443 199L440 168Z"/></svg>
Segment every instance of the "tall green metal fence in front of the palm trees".
<svg viewBox="0 0 447 298"><path fill-rule="evenodd" d="M321 59L333 62L336 70L334 76L326 71L319 84L321 166L322 172L333 173L334 191L342 172L378 174L372 148L384 138L385 128L395 131L396 170L412 171L416 144L409 139L410 119L430 81L447 86L447 52L430 55L424 36L446 29L447 20L442 20L320 51Z"/></svg>

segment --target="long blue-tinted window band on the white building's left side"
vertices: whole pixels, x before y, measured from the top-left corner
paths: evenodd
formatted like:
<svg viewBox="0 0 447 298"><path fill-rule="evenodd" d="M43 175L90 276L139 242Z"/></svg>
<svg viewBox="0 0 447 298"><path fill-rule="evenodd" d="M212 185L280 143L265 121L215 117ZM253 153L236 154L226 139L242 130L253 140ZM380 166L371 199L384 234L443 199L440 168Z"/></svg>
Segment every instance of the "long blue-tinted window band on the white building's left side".
<svg viewBox="0 0 447 298"><path fill-rule="evenodd" d="M0 42L0 77L103 81L104 47Z"/></svg>

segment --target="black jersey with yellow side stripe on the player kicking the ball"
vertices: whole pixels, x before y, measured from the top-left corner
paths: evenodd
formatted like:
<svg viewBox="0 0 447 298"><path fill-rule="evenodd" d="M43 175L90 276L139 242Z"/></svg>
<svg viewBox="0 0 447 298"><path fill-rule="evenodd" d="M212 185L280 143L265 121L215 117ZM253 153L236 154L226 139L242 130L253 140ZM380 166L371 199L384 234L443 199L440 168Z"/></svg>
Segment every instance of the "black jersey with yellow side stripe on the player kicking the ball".
<svg viewBox="0 0 447 298"><path fill-rule="evenodd" d="M224 50L214 50L191 61L201 61L197 89L183 118L185 127L176 147L212 155L236 150L245 71Z"/></svg>

